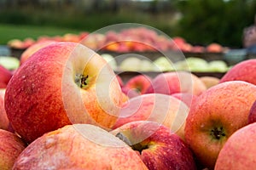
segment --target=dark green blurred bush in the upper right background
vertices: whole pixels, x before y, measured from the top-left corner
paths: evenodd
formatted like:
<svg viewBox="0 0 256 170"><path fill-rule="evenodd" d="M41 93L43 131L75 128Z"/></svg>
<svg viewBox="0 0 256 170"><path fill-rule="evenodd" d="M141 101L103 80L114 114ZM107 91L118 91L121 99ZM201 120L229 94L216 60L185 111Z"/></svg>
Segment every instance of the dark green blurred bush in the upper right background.
<svg viewBox="0 0 256 170"><path fill-rule="evenodd" d="M177 35L202 45L218 42L241 48L242 31L253 24L256 1L188 0L177 7L183 14Z"/></svg>

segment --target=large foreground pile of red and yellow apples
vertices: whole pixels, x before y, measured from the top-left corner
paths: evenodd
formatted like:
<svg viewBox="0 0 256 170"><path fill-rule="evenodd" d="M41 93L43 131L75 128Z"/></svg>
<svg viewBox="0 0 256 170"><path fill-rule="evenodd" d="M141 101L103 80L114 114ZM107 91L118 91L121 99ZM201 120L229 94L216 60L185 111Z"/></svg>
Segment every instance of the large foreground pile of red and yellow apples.
<svg viewBox="0 0 256 170"><path fill-rule="evenodd" d="M0 168L253 168L255 73L248 59L221 79L172 71L124 83L83 44L50 42L0 93Z"/></svg>

